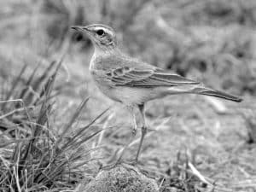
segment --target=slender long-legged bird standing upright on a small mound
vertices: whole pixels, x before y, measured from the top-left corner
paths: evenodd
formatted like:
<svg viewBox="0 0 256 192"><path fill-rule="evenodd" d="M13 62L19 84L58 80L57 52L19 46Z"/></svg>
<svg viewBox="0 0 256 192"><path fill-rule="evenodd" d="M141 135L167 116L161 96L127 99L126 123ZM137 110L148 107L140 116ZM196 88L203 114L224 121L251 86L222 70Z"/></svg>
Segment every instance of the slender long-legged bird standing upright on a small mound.
<svg viewBox="0 0 256 192"><path fill-rule="evenodd" d="M119 49L116 32L111 26L91 24L72 28L90 38L94 46L89 69L99 90L113 101L121 102L131 109L134 137L137 132L135 109L140 112L141 137L135 162L139 158L148 130L144 108L146 102L177 94L198 94L216 96L233 102L242 101L241 98L222 90L214 90L201 82L126 55Z"/></svg>

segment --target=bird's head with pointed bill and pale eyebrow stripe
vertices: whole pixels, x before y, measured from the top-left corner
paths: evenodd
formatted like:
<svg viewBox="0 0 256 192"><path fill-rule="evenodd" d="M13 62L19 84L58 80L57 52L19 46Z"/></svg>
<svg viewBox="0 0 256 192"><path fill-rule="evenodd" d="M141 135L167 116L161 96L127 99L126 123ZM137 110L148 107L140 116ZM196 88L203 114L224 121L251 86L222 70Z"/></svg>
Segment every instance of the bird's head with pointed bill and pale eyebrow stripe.
<svg viewBox="0 0 256 192"><path fill-rule="evenodd" d="M102 24L92 24L89 26L72 26L78 32L85 33L96 49L109 50L117 46L117 39L113 28Z"/></svg>

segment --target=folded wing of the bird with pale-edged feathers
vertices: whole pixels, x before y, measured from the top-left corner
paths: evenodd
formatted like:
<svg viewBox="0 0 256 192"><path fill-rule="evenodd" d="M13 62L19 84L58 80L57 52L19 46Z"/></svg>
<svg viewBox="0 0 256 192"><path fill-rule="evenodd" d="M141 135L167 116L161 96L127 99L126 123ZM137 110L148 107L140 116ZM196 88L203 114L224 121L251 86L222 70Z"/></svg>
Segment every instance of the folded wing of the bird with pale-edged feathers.
<svg viewBox="0 0 256 192"><path fill-rule="evenodd" d="M135 61L132 61L135 62ZM200 84L194 80L183 78L176 73L166 73L163 69L146 63L134 63L114 67L106 72L108 80L116 86L157 87L177 86L183 84Z"/></svg>

